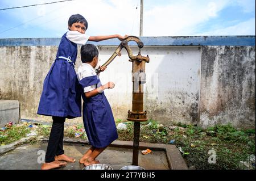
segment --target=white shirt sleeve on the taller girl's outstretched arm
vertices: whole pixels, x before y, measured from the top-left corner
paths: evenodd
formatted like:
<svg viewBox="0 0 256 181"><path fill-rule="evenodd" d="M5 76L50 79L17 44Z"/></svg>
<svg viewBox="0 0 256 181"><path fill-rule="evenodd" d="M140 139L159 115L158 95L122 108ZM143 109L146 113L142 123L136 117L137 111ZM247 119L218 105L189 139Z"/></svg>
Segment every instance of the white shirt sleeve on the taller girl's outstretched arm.
<svg viewBox="0 0 256 181"><path fill-rule="evenodd" d="M78 31L68 31L66 37L75 44L85 45L90 36L82 34Z"/></svg>

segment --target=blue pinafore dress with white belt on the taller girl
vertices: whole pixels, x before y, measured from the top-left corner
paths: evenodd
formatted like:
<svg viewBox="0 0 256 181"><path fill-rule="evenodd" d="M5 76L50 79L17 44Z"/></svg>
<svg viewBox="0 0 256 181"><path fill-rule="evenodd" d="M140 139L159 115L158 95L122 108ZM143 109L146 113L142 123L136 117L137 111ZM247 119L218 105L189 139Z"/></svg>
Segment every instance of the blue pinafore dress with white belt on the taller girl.
<svg viewBox="0 0 256 181"><path fill-rule="evenodd" d="M75 71L77 44L66 35L61 37L56 60L44 79L39 115L69 119L81 116L81 92Z"/></svg>

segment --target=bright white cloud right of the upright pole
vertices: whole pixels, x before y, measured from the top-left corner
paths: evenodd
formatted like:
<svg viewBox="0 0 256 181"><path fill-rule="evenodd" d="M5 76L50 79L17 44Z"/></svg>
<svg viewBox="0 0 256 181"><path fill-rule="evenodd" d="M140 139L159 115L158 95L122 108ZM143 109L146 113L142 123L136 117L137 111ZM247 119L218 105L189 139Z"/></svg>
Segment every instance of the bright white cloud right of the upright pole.
<svg viewBox="0 0 256 181"><path fill-rule="evenodd" d="M168 6L156 6L145 13L144 36L194 35L197 26L228 6L228 0L177 1ZM218 6L217 6L218 5Z"/></svg>

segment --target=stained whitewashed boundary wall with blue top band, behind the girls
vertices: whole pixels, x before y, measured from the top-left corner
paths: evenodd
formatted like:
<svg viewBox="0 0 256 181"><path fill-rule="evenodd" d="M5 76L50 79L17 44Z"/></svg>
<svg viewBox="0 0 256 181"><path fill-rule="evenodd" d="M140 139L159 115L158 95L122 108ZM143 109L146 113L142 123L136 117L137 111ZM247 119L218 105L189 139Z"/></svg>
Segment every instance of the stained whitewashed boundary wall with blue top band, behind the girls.
<svg viewBox="0 0 256 181"><path fill-rule="evenodd" d="M144 86L148 119L204 128L217 123L255 128L255 36L141 37L141 40L142 54L150 56ZM18 100L23 119L51 120L36 115L36 111L59 41L59 38L0 39L0 60L5 65L0 71L1 98ZM119 43L118 40L93 43L100 51L100 64L108 60ZM138 48L130 45L136 54ZM115 89L105 91L115 119L126 119L127 110L131 109L131 62L125 50L121 53L100 75L102 83L116 84ZM76 69L80 64L79 56ZM69 121L82 123L81 118Z"/></svg>

